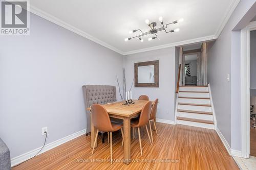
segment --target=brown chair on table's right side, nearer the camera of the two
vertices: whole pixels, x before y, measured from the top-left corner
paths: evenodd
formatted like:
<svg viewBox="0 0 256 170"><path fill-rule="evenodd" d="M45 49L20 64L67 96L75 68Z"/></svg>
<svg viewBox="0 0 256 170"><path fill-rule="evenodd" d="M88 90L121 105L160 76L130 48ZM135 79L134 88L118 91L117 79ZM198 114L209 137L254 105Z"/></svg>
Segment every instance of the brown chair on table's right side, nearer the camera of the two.
<svg viewBox="0 0 256 170"><path fill-rule="evenodd" d="M150 120L151 105L152 105L151 102L147 102L141 110L140 118L131 119L131 127L138 129L141 156L142 156L142 147L141 147L140 127L146 128L148 139L150 139L150 134L148 133L146 124ZM150 144L152 144L151 139L150 139Z"/></svg>

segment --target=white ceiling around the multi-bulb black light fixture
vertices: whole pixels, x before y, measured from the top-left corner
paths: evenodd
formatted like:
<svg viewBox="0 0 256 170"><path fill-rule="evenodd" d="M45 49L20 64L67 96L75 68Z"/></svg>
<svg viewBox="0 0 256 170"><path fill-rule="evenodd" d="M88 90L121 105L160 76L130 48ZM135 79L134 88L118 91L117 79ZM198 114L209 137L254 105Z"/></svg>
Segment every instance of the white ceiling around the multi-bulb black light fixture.
<svg viewBox="0 0 256 170"><path fill-rule="evenodd" d="M216 39L240 0L31 0L30 11L89 38L120 54L132 54L168 46ZM130 30L148 31L144 20L164 23L180 18L184 21L172 25L180 32L159 32L155 40L124 41ZM134 34L136 35L136 34Z"/></svg>

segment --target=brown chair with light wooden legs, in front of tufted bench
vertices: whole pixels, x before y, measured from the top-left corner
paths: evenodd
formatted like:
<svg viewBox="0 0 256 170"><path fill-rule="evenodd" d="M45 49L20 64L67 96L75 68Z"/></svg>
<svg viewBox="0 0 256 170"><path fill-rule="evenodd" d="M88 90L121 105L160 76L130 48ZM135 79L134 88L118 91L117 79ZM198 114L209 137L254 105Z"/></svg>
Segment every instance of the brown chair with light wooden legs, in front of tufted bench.
<svg viewBox="0 0 256 170"><path fill-rule="evenodd" d="M102 105L93 104L91 111L92 111L92 122L94 124L94 127L97 128L96 137L93 144L93 151L95 148L95 144L97 142L99 131L110 132L110 159L112 164L112 132L121 130L122 143L123 143L123 130L122 130L123 124L111 122L108 112ZM93 151L92 151L92 155L93 155Z"/></svg>

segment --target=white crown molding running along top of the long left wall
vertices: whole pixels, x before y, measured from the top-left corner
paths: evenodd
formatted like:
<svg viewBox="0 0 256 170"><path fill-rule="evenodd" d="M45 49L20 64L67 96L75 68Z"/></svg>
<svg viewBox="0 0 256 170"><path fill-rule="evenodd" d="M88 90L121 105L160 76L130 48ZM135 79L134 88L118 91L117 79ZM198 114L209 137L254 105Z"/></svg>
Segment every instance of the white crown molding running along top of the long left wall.
<svg viewBox="0 0 256 170"><path fill-rule="evenodd" d="M123 52L118 50L114 46L112 46L112 45L110 45L108 43L105 43L105 42L99 40L98 38L96 38L96 37L94 37L94 36L84 32L84 31L82 31L82 30L80 30L80 29L78 29L78 28L76 28L74 26L71 26L69 23L64 22L64 21L56 18L55 16L52 16L52 15L46 13L45 11L42 11L42 10L32 6L32 5L30 5L29 12L32 12L33 14L38 15L38 16L46 19L46 20L49 20L49 21L55 23L56 25L58 25L60 27L63 27L65 29L69 30L69 31L72 31L73 33L76 33L76 34L78 34L78 35L80 35L80 36L82 36L84 38L87 38L87 39L89 39L89 40L91 40L93 42L96 42L96 43L98 43L98 44L100 44L100 45L102 45L102 46L104 46L106 48L109 48L110 50L112 50L112 51L114 51L116 53L119 53L119 54L123 55Z"/></svg>

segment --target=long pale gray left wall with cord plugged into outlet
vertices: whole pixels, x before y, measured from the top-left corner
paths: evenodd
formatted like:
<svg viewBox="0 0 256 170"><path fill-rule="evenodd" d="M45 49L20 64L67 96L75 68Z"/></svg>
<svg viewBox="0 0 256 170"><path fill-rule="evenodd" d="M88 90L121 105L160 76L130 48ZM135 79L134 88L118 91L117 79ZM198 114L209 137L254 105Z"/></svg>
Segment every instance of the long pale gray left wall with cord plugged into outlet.
<svg viewBox="0 0 256 170"><path fill-rule="evenodd" d="M0 137L11 157L86 128L82 85L116 85L123 56L34 14L30 36L0 36ZM117 95L118 100L119 95Z"/></svg>

